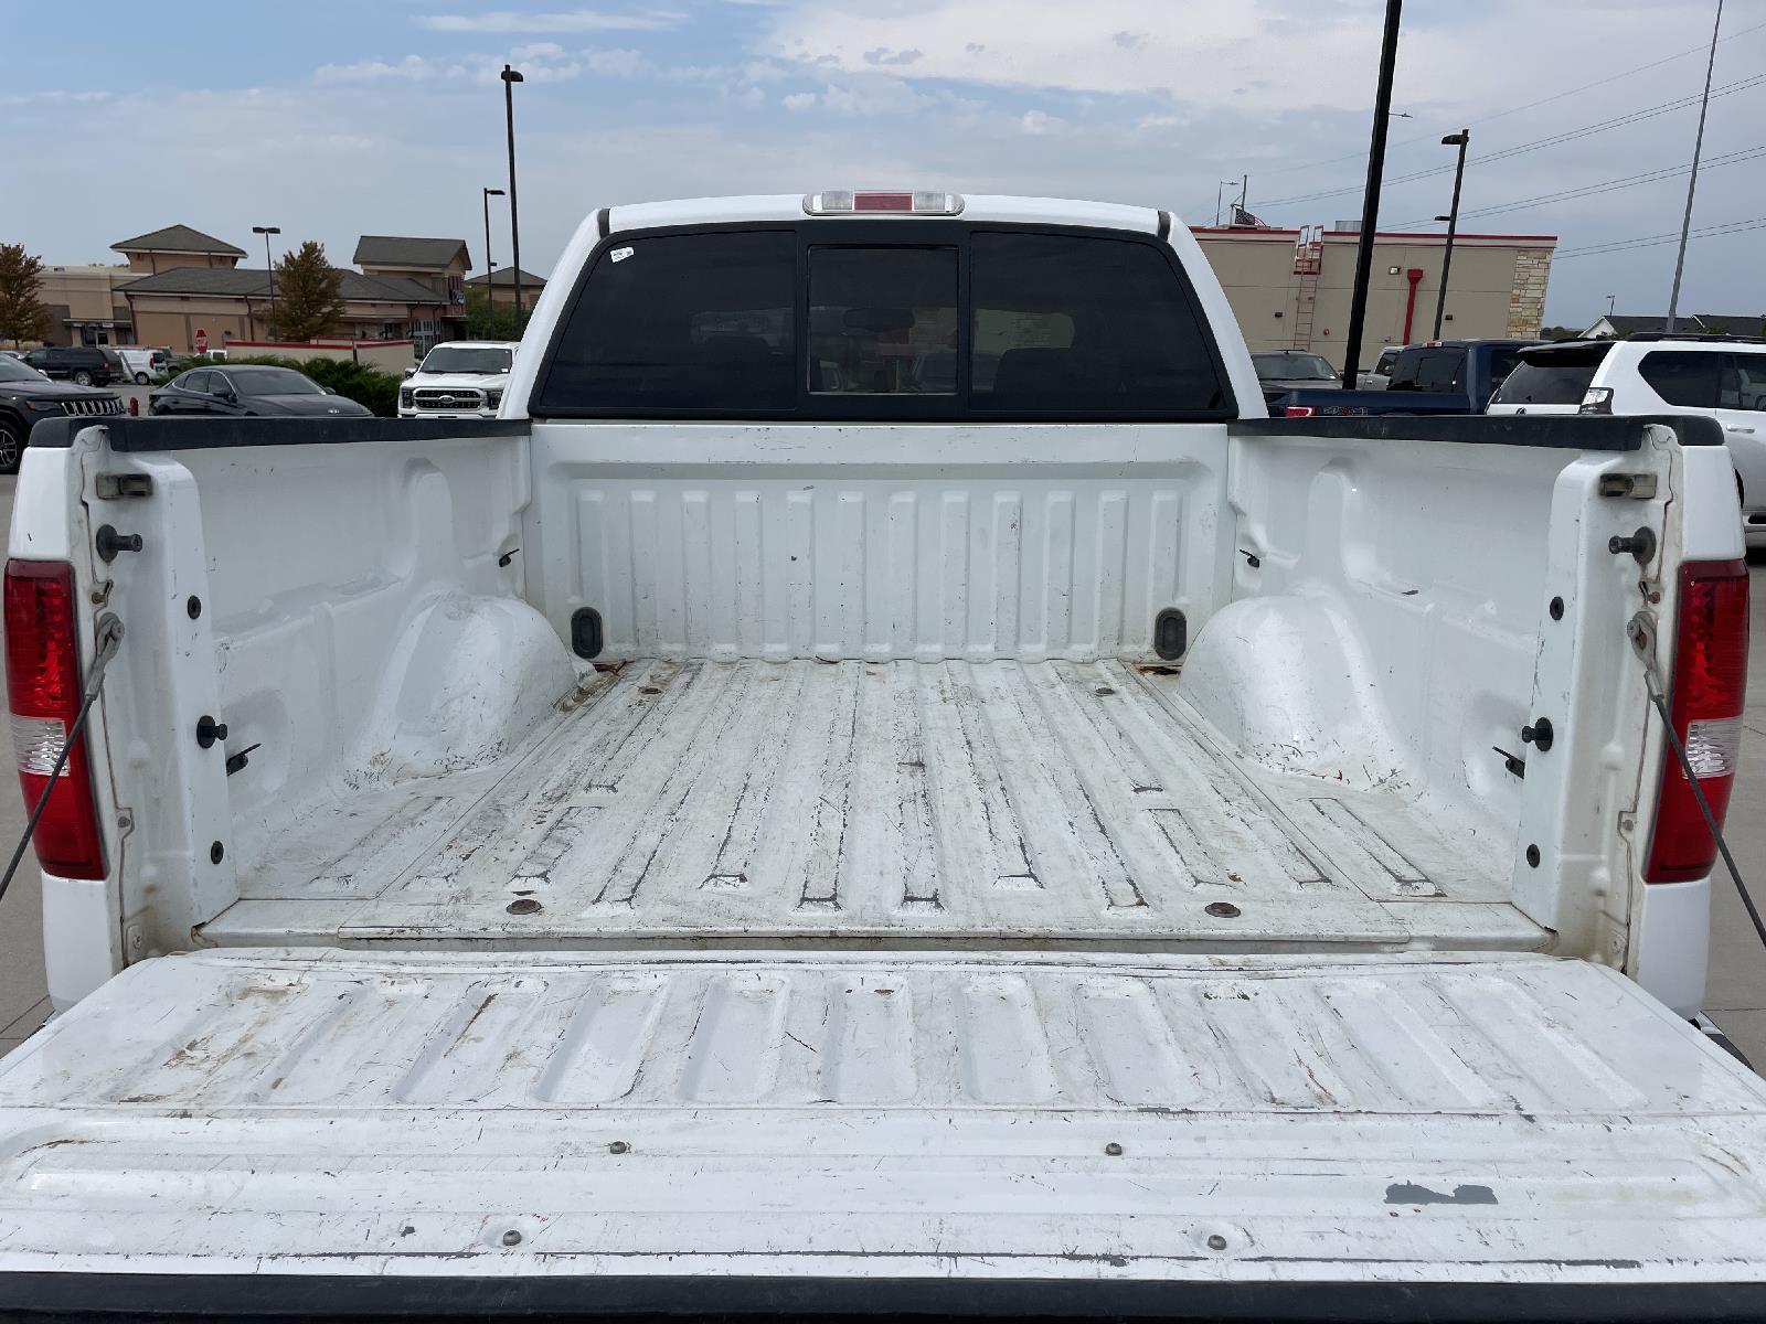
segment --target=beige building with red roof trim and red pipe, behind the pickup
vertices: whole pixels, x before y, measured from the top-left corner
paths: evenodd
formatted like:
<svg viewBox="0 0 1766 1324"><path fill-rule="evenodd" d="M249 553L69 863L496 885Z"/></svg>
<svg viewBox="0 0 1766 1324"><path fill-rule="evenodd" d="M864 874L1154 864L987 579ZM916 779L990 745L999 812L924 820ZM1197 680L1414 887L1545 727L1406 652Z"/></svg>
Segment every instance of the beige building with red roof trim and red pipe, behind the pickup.
<svg viewBox="0 0 1766 1324"><path fill-rule="evenodd" d="M1310 350L1342 367L1356 231L1201 226L1192 233L1252 350ZM1556 247L1556 235L1457 235L1441 339L1538 335ZM1445 233L1376 237L1363 367L1383 346L1432 337L1445 249Z"/></svg>

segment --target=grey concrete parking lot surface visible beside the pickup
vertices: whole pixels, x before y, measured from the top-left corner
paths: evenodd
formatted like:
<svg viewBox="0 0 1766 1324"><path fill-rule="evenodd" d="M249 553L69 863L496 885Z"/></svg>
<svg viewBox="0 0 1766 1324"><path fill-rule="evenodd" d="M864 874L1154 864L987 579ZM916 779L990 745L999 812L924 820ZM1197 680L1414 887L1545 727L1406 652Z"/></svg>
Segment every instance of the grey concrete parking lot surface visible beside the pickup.
<svg viewBox="0 0 1766 1324"><path fill-rule="evenodd" d="M141 388L145 395L145 388ZM145 408L145 404L143 404ZM0 477L0 528L12 521L16 480ZM1747 733L1741 775L1729 807L1729 844L1741 876L1766 906L1766 567L1752 583L1754 637L1748 651ZM25 807L0 787L0 867L25 831ZM1766 1068L1766 950L1734 886L1720 876L1711 900L1711 973L1706 1012L1759 1068ZM0 899L0 1054L11 1052L49 1015L42 971L42 888L26 856Z"/></svg>

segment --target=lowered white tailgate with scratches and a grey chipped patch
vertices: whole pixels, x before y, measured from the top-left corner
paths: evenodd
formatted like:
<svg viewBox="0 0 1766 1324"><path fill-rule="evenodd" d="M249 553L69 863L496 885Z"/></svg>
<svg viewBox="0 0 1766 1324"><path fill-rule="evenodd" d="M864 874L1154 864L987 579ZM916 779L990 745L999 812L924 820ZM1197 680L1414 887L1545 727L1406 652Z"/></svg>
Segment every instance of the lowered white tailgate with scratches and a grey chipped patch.
<svg viewBox="0 0 1766 1324"><path fill-rule="evenodd" d="M1766 1089L1543 957L207 952L0 1135L0 1310L1766 1315Z"/></svg>

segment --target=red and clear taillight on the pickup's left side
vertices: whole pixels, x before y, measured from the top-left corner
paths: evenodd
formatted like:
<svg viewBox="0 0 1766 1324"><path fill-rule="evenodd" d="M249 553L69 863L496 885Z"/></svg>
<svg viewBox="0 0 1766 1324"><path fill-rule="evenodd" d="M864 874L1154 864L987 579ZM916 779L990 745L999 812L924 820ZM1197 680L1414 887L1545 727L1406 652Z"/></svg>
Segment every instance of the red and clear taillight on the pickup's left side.
<svg viewBox="0 0 1766 1324"><path fill-rule="evenodd" d="M79 604L67 561L5 563L5 687L12 708L12 752L25 810L49 784L67 733L79 717ZM92 770L81 733L55 779L34 839L44 870L104 877L104 840L92 800Z"/></svg>

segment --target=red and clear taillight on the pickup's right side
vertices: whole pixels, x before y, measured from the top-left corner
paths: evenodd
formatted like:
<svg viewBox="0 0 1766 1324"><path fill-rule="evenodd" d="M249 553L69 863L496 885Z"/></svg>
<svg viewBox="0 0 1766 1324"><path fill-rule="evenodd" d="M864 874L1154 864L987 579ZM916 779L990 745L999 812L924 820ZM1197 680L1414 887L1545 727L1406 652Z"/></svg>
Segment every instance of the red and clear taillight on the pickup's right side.
<svg viewBox="0 0 1766 1324"><path fill-rule="evenodd" d="M1741 749L1741 706L1748 688L1748 565L1687 561L1679 567L1679 621L1674 628L1674 731L1724 826ZM1662 764L1649 883L1690 883L1711 872L1717 840L1704 826L1692 782L1672 750Z"/></svg>

